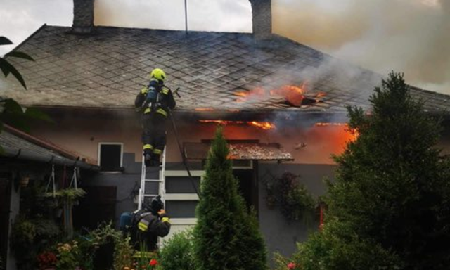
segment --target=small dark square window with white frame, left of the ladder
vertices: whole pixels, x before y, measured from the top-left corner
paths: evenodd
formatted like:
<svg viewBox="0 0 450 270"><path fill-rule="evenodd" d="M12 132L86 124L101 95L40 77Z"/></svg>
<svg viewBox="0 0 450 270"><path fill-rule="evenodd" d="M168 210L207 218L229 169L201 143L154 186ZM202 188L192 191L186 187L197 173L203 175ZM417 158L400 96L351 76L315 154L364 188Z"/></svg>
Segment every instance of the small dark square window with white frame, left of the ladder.
<svg viewBox="0 0 450 270"><path fill-rule="evenodd" d="M98 143L98 166L103 172L122 170L123 143Z"/></svg>

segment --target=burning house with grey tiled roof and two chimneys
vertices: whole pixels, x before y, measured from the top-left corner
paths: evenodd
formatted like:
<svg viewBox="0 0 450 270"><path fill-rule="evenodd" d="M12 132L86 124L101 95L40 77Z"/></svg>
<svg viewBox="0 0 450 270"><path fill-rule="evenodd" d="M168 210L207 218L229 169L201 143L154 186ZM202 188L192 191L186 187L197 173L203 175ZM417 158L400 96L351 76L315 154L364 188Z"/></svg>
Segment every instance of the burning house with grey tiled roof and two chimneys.
<svg viewBox="0 0 450 270"><path fill-rule="evenodd" d="M141 177L141 124L134 98L148 72L162 68L179 87L168 123L165 200L172 233L195 224L198 196L183 165L181 143L195 185L203 176L217 124L224 125L234 174L257 210L269 252L289 254L308 228L266 205L266 183L283 172L300 175L314 196L333 179L334 162L357 134L345 123L346 106L368 108L380 75L271 33L270 0L250 0L253 33L184 32L94 26L94 0L75 0L73 27L43 25L18 50L36 61L11 61L28 90L1 79L2 96L40 108L56 124L31 134L76 150L102 168L82 183L79 226L95 226L136 209ZM450 96L411 87L425 112L444 115ZM446 143L444 141L444 143ZM153 174L157 175L158 169ZM101 214L99 214L101 213Z"/></svg>

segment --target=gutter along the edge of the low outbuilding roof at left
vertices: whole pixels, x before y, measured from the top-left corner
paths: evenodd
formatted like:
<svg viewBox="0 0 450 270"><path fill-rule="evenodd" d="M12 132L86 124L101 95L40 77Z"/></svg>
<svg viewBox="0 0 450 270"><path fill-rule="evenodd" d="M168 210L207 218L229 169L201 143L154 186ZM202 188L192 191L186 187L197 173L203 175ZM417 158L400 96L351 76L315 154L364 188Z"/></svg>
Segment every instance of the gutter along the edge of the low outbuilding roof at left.
<svg viewBox="0 0 450 270"><path fill-rule="evenodd" d="M79 161L79 157L76 160L71 160L69 158L63 158L58 155L39 155L30 150L24 150L22 148L11 148L3 146L4 157L17 158L19 160L32 160L37 162L51 163L55 165L66 165L70 167L79 167L81 169L89 169L91 171L99 172L100 167L96 165L91 165L89 163Z"/></svg>

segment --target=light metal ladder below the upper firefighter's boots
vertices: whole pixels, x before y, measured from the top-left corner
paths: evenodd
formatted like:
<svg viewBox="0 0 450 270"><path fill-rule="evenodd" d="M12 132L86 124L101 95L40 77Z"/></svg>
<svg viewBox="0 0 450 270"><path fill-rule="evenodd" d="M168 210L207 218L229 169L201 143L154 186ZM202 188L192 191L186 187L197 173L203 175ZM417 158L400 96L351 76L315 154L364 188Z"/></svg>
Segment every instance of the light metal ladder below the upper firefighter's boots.
<svg viewBox="0 0 450 270"><path fill-rule="evenodd" d="M165 203L165 194L166 194L166 188L165 188L165 171L166 171L166 148L162 151L162 164L160 167L159 172L159 179L147 179L146 174L148 169L156 168L156 167L146 167L144 164L144 159L142 158L142 168L141 168L141 188L139 188L139 201L138 201L138 210L142 208L144 200L146 198L149 198L149 200L155 198L156 196L160 195L162 203ZM158 184L158 194L155 193L149 193L150 191L146 189L148 188L147 184L150 183L157 183Z"/></svg>

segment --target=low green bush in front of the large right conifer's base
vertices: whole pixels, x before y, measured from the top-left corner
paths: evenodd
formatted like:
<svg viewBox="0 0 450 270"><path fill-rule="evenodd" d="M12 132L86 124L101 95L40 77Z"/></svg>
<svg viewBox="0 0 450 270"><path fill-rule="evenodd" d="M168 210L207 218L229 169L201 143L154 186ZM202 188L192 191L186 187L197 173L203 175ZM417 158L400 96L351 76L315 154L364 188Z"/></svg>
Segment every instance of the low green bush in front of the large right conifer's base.
<svg viewBox="0 0 450 270"><path fill-rule="evenodd" d="M286 258L276 254L276 270L395 270L402 269L397 255L371 240L351 234L343 222L332 221L321 233L297 243L297 252Z"/></svg>

